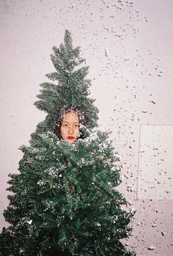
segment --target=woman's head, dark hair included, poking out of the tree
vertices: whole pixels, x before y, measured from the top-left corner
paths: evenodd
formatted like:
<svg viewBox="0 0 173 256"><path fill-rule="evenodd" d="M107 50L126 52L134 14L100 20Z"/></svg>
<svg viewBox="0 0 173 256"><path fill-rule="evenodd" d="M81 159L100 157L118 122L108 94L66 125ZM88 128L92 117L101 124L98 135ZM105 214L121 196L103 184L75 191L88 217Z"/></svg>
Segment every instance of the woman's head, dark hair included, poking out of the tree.
<svg viewBox="0 0 173 256"><path fill-rule="evenodd" d="M81 126L87 126L87 120L84 111L78 108L75 104L69 106L61 106L56 120L54 134L59 139L73 144L78 138L84 139L84 133L81 131Z"/></svg>

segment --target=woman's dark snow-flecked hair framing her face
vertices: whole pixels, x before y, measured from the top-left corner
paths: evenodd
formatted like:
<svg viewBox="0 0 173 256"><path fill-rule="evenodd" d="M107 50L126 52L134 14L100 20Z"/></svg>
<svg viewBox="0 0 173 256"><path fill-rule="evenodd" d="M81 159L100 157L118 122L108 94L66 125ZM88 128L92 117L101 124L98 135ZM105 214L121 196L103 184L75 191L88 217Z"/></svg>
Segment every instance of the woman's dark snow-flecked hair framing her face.
<svg viewBox="0 0 173 256"><path fill-rule="evenodd" d="M59 137L59 139L62 139L61 136L61 126L62 126L62 120L65 117L65 114L70 112L71 110L75 111L76 114L78 114L78 119L79 119L79 132L80 132L80 139L84 138L84 134L82 133L82 130L80 128L80 124L87 126L87 118L84 114L84 111L79 109L78 106L75 104L70 104L69 106L61 106L59 108L58 114L57 114L57 119L56 119L56 125L54 129L54 134Z"/></svg>

